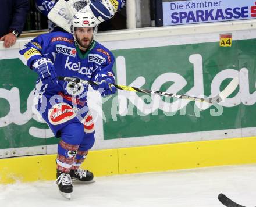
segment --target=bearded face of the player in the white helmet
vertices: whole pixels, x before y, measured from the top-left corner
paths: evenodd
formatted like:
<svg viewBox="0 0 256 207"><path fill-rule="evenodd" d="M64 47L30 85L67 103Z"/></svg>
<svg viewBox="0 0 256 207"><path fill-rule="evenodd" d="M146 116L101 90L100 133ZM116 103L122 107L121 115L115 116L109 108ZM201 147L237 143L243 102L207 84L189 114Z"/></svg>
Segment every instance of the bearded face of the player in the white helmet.
<svg viewBox="0 0 256 207"><path fill-rule="evenodd" d="M74 34L76 35L76 41L78 44L84 49L87 49L93 40L93 33L94 27L78 27L76 28L76 32Z"/></svg>

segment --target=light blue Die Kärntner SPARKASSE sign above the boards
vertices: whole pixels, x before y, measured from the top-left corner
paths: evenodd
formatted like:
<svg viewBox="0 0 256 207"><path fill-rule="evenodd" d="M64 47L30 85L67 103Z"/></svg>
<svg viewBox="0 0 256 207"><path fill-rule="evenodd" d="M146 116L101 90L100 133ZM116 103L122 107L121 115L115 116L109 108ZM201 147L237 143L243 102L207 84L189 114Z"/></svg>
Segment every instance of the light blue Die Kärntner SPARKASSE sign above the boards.
<svg viewBox="0 0 256 207"><path fill-rule="evenodd" d="M245 1L175 1L163 3L163 24L191 24L252 19L256 17L255 0Z"/></svg>

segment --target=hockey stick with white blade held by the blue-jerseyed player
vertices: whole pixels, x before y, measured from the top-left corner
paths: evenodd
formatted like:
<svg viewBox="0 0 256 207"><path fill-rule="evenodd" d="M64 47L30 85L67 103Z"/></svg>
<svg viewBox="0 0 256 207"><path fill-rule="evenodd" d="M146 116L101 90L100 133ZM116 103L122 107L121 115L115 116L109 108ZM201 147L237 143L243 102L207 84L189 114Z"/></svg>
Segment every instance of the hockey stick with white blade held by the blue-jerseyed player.
<svg viewBox="0 0 256 207"><path fill-rule="evenodd" d="M99 83L95 81L90 81L90 80L83 80L79 78L73 78L73 77L63 77L59 76L58 80L64 80L64 81L70 81L73 83L82 83L82 84L89 84L89 85L99 85ZM186 99L190 101L200 101L200 102L206 102L209 104L215 104L223 101L225 98L227 98L232 92L236 89L238 85L238 78L233 78L233 80L227 85L227 87L218 95L212 98L200 98L200 97L193 97L190 95L177 95L177 94L172 94L168 92L162 92L162 91L151 91L143 88L136 88L136 87L130 87L126 85L116 85L116 84L110 84L115 86L116 88L120 90L125 90L125 91L134 91L134 92L143 92L144 94L157 94L161 95L164 97L172 97L172 98L179 98L179 99Z"/></svg>

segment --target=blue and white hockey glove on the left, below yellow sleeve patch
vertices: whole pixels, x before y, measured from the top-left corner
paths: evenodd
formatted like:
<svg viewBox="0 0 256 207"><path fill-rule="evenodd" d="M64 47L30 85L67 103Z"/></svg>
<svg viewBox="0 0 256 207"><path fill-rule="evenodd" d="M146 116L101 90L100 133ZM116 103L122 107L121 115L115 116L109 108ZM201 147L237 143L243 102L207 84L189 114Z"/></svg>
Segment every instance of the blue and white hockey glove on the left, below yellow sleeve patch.
<svg viewBox="0 0 256 207"><path fill-rule="evenodd" d="M32 68L35 72L37 72L42 83L44 84L57 83L56 72L51 59L49 58L38 59L33 63Z"/></svg>

